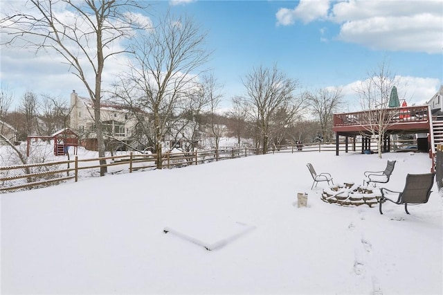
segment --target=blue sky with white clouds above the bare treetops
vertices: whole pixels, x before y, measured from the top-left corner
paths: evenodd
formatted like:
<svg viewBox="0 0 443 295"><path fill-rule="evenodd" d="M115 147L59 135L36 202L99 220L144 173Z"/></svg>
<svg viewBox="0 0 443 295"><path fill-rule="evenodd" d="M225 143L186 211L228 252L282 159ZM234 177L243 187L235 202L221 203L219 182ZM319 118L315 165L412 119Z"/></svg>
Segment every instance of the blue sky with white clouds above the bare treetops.
<svg viewBox="0 0 443 295"><path fill-rule="evenodd" d="M348 109L358 108L351 105L359 81L383 62L401 77L399 96L409 104L430 99L443 84L443 0L150 3L154 23L156 15L170 9L191 16L208 32L208 50L214 51L208 66L224 85L224 108L232 96L244 94L246 73L273 64L300 82L300 92L341 87ZM17 50L3 53L1 86L17 99L26 89L66 99L77 89L86 96L60 62L17 55Z"/></svg>

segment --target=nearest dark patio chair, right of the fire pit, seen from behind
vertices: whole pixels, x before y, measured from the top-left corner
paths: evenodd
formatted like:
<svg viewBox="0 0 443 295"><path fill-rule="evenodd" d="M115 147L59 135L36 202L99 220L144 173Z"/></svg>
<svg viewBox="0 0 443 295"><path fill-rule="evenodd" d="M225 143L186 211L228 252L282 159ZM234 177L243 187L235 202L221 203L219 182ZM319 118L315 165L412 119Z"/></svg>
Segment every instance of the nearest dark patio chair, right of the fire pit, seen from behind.
<svg viewBox="0 0 443 295"><path fill-rule="evenodd" d="M408 204L424 204L428 202L429 195L431 195L431 188L434 184L435 173L426 174L408 174L406 175L406 184L402 192L395 192L393 190L388 190L387 188L381 188L380 206L379 211L381 212L381 204L383 201L390 201L394 204L404 204L404 210L408 212ZM386 197L386 193L399 194L397 201L393 201Z"/></svg>

